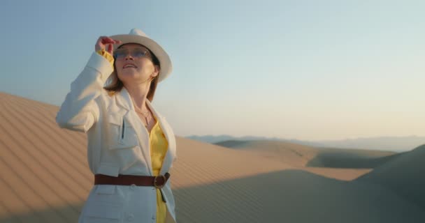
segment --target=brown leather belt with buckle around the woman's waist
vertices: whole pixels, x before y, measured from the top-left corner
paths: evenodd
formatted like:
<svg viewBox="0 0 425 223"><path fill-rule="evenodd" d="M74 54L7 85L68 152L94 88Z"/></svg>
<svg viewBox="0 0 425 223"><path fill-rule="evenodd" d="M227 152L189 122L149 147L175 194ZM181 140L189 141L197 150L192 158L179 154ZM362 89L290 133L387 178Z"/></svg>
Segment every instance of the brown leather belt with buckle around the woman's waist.
<svg viewBox="0 0 425 223"><path fill-rule="evenodd" d="M103 174L94 175L94 185L136 185L151 186L161 189L167 183L170 174L166 173L159 176L136 176L136 175L118 175L108 176Z"/></svg>

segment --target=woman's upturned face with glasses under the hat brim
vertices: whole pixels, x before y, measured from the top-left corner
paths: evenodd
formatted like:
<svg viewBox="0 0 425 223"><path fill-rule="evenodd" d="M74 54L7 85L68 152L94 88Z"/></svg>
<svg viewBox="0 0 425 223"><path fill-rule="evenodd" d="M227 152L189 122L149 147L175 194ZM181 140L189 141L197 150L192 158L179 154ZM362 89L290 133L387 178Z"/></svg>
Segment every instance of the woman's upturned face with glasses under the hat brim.
<svg viewBox="0 0 425 223"><path fill-rule="evenodd" d="M149 50L136 43L127 43L113 52L118 78L124 86L129 84L149 84L150 79L159 73L152 62Z"/></svg>

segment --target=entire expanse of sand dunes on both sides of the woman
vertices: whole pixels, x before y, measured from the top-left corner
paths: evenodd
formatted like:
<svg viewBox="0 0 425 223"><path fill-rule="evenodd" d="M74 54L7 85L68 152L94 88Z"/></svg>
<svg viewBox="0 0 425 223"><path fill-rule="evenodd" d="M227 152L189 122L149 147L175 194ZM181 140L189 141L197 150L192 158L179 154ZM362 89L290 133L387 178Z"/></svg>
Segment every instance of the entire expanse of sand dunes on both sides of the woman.
<svg viewBox="0 0 425 223"><path fill-rule="evenodd" d="M57 106L0 93L0 222L77 222L87 138ZM425 146L405 153L177 137L178 222L424 222Z"/></svg>

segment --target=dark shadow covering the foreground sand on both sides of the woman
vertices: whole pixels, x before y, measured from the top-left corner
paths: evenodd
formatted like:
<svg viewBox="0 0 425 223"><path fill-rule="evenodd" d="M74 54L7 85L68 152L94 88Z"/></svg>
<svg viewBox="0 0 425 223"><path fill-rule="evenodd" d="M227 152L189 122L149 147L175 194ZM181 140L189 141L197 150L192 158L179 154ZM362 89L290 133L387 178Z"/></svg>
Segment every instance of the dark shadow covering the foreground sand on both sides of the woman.
<svg viewBox="0 0 425 223"><path fill-rule="evenodd" d="M187 176L190 177L190 176ZM178 222L423 222L425 210L373 183L285 170L173 191ZM73 206L80 210L82 204ZM59 207L1 218L53 222ZM62 222L76 222L79 213Z"/></svg>

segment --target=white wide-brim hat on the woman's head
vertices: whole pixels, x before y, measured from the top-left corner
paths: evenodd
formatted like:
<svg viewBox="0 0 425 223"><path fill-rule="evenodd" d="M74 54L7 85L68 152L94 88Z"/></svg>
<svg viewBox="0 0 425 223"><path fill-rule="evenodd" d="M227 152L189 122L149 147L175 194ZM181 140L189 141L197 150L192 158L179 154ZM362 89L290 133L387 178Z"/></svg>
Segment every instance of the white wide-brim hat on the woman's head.
<svg viewBox="0 0 425 223"><path fill-rule="evenodd" d="M157 42L149 38L140 29L134 28L131 29L129 34L110 36L110 38L113 38L114 40L120 40L122 42L120 45L114 45L114 50L127 43L137 43L144 45L147 47L147 49L150 49L150 51L152 51L152 53L157 56L159 65L161 66L158 82L166 79L166 77L171 74L173 65L171 63L170 56L168 56L167 52Z"/></svg>

